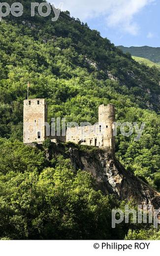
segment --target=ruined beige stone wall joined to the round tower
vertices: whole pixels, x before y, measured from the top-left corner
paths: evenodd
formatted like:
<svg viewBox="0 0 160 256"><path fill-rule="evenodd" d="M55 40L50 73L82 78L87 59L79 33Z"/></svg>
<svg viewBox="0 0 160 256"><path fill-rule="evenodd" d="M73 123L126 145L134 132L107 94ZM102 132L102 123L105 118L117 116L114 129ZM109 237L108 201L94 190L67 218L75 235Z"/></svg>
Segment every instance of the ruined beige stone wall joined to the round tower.
<svg viewBox="0 0 160 256"><path fill-rule="evenodd" d="M100 105L98 123L95 126L67 128L66 141L75 144L97 146L115 152L115 137L113 136L115 122L115 105Z"/></svg>

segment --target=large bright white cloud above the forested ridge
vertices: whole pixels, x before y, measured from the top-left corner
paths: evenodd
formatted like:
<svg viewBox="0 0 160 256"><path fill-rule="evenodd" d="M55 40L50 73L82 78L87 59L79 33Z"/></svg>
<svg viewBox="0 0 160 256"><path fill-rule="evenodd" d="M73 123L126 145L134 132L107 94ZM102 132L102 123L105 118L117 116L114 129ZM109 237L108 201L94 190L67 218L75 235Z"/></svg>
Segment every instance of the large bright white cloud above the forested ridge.
<svg viewBox="0 0 160 256"><path fill-rule="evenodd" d="M139 26L134 22L134 15L155 0L55 0L55 6L63 2L63 10L71 16L87 21L94 17L105 17L105 26L119 28L121 31L136 35Z"/></svg>

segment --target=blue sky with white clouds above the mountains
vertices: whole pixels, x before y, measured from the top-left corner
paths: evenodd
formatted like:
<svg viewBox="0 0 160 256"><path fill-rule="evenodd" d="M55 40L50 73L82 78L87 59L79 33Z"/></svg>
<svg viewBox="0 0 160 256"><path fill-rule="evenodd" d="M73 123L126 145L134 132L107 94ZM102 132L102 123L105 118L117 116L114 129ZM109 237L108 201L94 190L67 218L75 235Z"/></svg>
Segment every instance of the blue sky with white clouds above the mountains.
<svg viewBox="0 0 160 256"><path fill-rule="evenodd" d="M55 0L115 45L160 47L160 0Z"/></svg>

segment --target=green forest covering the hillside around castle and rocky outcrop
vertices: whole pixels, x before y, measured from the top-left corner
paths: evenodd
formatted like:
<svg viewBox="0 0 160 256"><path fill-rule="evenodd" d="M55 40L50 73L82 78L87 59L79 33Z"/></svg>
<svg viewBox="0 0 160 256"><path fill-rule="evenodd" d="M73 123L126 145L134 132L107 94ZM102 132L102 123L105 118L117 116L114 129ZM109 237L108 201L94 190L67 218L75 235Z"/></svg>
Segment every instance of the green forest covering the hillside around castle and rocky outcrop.
<svg viewBox="0 0 160 256"><path fill-rule="evenodd" d="M91 174L69 160L47 160L45 149L22 142L28 81L30 97L47 100L48 122L95 124L99 104L113 103L117 122L146 123L139 141L118 130L116 158L160 192L160 70L68 11L52 22L53 14L31 17L31 1L20 2L23 16L0 22L0 239L160 239L131 218L112 229L111 211L125 202L96 191Z"/></svg>

